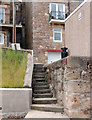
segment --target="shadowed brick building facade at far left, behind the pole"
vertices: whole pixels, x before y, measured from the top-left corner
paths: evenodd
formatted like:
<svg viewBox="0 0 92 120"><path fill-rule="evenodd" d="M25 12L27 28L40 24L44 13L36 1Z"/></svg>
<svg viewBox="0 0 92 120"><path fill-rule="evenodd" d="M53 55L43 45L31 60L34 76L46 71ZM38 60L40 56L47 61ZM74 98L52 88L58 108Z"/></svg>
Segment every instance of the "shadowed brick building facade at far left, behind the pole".
<svg viewBox="0 0 92 120"><path fill-rule="evenodd" d="M22 15L22 3L15 4L16 43L23 47L23 25L25 20ZM0 3L0 45L9 47L13 43L13 2Z"/></svg>

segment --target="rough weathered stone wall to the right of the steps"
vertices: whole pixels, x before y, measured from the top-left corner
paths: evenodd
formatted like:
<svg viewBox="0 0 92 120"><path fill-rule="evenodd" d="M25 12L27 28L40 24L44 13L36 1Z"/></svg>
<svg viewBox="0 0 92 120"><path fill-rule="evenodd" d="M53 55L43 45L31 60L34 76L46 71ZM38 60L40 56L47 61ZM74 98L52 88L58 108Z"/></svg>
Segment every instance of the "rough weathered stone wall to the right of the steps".
<svg viewBox="0 0 92 120"><path fill-rule="evenodd" d="M92 61L67 57L45 65L53 97L71 118L87 118L91 112Z"/></svg>

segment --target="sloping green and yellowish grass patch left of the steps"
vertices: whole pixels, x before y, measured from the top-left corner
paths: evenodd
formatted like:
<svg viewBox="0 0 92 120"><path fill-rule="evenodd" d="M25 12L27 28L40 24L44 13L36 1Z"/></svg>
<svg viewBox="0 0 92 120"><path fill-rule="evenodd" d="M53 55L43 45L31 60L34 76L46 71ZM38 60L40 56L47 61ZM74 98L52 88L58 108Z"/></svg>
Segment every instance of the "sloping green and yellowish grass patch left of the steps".
<svg viewBox="0 0 92 120"><path fill-rule="evenodd" d="M22 88L27 57L21 51L2 50L2 88Z"/></svg>

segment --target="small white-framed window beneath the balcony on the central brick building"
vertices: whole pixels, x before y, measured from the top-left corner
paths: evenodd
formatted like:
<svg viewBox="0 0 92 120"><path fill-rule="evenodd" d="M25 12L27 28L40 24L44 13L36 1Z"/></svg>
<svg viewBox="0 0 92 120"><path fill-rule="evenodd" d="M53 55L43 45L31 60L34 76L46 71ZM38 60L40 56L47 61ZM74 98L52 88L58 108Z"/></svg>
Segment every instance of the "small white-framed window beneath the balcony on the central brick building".
<svg viewBox="0 0 92 120"><path fill-rule="evenodd" d="M53 38L54 38L54 42L62 42L62 29L61 28L53 29Z"/></svg>

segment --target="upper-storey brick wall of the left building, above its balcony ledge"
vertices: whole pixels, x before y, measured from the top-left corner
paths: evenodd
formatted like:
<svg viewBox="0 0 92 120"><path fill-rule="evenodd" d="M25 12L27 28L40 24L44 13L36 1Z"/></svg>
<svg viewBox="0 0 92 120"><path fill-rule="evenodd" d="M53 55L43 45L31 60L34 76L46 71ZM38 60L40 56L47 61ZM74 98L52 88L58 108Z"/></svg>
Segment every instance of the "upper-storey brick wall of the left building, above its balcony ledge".
<svg viewBox="0 0 92 120"><path fill-rule="evenodd" d="M18 10L16 10L16 24L18 24L21 15L25 23L25 3L16 2L16 5L18 5ZM13 24L13 3L2 2L0 8L5 8L5 24Z"/></svg>

